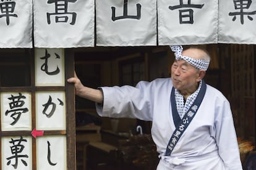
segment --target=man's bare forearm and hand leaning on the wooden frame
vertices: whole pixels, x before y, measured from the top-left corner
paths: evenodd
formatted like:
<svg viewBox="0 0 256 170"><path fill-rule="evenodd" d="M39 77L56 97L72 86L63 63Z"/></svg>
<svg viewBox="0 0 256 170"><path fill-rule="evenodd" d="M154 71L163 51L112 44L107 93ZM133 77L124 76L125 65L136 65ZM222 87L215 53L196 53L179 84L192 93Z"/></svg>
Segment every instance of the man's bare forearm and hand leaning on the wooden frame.
<svg viewBox="0 0 256 170"><path fill-rule="evenodd" d="M75 94L96 103L103 103L103 93L99 89L83 86L80 79L75 74L74 78L67 79L68 83L74 83Z"/></svg>

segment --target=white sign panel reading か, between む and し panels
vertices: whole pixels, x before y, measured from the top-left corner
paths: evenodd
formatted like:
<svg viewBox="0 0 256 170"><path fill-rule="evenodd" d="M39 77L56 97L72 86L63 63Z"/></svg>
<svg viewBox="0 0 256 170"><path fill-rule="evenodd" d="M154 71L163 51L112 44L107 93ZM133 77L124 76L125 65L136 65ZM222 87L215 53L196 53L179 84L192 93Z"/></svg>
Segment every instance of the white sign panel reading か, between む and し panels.
<svg viewBox="0 0 256 170"><path fill-rule="evenodd" d="M66 130L65 92L36 92L36 130Z"/></svg>

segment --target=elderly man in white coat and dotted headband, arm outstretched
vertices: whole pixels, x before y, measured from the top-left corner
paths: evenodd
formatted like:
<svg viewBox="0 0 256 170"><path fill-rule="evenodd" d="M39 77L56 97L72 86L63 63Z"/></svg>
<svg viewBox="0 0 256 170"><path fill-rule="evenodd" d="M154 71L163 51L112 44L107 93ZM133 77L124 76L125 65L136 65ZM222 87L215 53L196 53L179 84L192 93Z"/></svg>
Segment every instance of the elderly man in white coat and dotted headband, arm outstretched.
<svg viewBox="0 0 256 170"><path fill-rule="evenodd" d="M203 81L210 56L197 47L171 49L171 78L100 89L83 86L76 76L67 81L77 95L97 103L100 116L152 121L157 169L242 169L229 102Z"/></svg>

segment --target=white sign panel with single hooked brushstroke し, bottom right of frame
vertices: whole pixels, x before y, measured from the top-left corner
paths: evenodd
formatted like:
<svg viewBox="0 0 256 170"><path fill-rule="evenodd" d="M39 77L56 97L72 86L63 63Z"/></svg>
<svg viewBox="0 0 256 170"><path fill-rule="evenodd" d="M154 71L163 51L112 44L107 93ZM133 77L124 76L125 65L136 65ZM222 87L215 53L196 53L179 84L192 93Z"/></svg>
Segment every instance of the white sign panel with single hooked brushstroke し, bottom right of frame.
<svg viewBox="0 0 256 170"><path fill-rule="evenodd" d="M44 136L36 138L36 169L65 170L66 136Z"/></svg>

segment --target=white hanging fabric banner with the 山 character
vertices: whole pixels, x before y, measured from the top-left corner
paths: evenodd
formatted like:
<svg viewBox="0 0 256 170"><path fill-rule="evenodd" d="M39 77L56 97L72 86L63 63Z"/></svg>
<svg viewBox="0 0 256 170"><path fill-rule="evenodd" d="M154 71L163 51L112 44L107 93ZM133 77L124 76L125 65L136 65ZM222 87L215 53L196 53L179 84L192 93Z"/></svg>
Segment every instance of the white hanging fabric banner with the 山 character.
<svg viewBox="0 0 256 170"><path fill-rule="evenodd" d="M156 46L156 0L96 0L97 46Z"/></svg>

